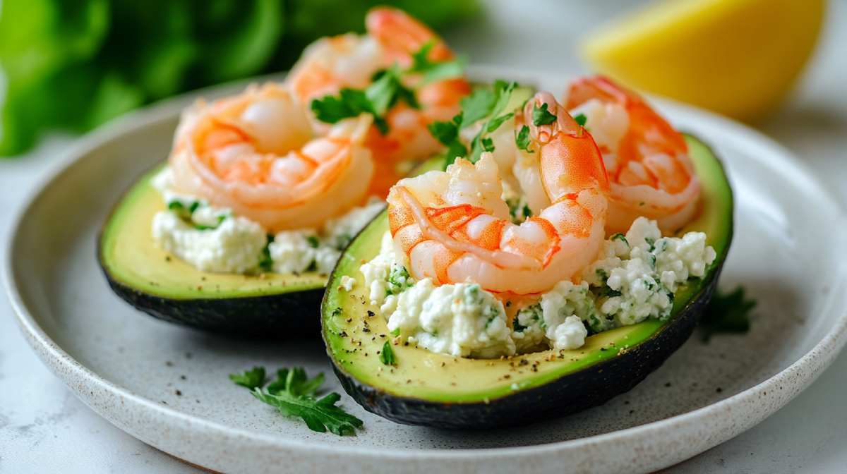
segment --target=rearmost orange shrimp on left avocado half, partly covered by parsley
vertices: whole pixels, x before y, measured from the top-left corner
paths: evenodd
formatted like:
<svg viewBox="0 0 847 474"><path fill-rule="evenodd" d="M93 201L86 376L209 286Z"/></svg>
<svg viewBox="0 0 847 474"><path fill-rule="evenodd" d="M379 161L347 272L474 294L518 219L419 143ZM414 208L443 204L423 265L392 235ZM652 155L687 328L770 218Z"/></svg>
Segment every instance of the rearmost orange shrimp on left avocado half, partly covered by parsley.
<svg viewBox="0 0 847 474"><path fill-rule="evenodd" d="M352 34L322 38L303 52L286 80L297 95L308 103L318 97L334 95L341 88L364 89L379 69L394 63L408 67L412 53L432 42L429 60L450 61L455 58L435 32L417 19L396 8L378 7L365 19L368 34ZM435 80L421 85L415 80L407 86L416 91L420 109L398 102L386 117L387 135L374 128L368 136L368 147L378 163L396 163L407 159L430 157L441 145L429 133L428 124L450 120L459 113L459 100L471 91L464 78ZM391 180L391 184L396 179ZM386 188L387 190L387 188Z"/></svg>

